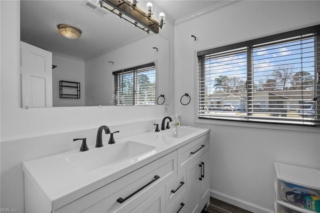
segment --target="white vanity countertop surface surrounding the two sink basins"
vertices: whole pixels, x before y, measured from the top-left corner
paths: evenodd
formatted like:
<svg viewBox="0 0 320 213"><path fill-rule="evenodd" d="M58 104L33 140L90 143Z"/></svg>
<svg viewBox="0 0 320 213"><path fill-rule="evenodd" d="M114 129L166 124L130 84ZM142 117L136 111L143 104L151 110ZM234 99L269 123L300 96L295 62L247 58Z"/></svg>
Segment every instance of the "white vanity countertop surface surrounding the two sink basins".
<svg viewBox="0 0 320 213"><path fill-rule="evenodd" d="M138 156L111 163L93 170L84 170L68 162L70 156L94 152L97 149L108 148L114 144L103 142L103 147L89 146L88 151L80 152L79 149L61 152L41 158L28 160L22 163L24 174L37 186L38 192L50 202L52 209L57 209L91 191L102 187L113 180L134 171L157 158L191 142L192 140L208 133L210 129L180 126L179 128L192 128L193 132L182 137L168 135L172 129L160 132L144 132L117 139L116 143L135 141L152 145L153 148Z"/></svg>

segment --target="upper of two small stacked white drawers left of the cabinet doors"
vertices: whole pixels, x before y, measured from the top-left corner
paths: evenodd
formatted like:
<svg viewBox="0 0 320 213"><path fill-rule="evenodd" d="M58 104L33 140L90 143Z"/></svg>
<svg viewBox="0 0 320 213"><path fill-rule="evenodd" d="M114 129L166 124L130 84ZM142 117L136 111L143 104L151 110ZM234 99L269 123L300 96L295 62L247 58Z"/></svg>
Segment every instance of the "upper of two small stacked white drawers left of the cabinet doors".
<svg viewBox="0 0 320 213"><path fill-rule="evenodd" d="M168 207L186 188L186 170L184 169L170 182L165 184L165 206Z"/></svg>

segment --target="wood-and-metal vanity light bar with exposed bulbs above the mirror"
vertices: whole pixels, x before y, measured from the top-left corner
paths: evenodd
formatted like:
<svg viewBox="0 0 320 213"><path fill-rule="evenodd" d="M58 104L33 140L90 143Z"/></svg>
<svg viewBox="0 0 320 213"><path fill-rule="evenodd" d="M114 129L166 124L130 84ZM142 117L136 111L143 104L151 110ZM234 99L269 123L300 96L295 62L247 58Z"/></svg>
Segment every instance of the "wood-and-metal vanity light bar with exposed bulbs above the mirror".
<svg viewBox="0 0 320 213"><path fill-rule="evenodd" d="M146 4L147 12L136 5L136 0L99 0L99 4L147 33L152 31L156 34L162 28L164 13L160 12L159 21L155 20L152 17L151 2Z"/></svg>

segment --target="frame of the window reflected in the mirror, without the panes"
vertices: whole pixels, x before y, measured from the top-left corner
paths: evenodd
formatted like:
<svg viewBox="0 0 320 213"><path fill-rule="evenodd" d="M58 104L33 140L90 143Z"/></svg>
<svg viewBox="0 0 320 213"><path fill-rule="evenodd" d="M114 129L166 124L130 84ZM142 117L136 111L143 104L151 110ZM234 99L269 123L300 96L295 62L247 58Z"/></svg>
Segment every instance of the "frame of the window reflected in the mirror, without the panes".
<svg viewBox="0 0 320 213"><path fill-rule="evenodd" d="M138 73L141 72L142 70L139 69L143 69L143 68L148 68L148 67L152 67L154 68L154 104L137 104L137 96L136 94L138 94L138 90L137 90L137 86L138 86ZM152 70L150 68L150 70ZM125 74L125 73L132 73L133 77L132 77L132 84L133 84L133 93L132 93L132 102L133 104L119 104L117 103L117 87L118 87L118 77L121 74ZM157 71L156 71L156 63L154 61L149 62L149 63L145 63L145 64L141 64L141 65L137 65L137 66L133 66L133 67L129 67L129 68L125 68L125 69L120 69L120 70L116 70L112 72L112 76L113 76L113 105L116 106L123 106L123 105L156 105L155 102L155 98L156 98L156 90L157 90Z"/></svg>

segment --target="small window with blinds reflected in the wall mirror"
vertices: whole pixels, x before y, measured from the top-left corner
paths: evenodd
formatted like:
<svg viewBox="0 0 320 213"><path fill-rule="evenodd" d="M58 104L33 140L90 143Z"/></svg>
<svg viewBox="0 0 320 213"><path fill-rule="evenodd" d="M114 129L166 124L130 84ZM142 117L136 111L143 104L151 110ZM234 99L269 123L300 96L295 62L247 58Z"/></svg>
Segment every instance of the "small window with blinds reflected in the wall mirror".
<svg viewBox="0 0 320 213"><path fill-rule="evenodd" d="M155 105L154 62L112 72L114 105Z"/></svg>

